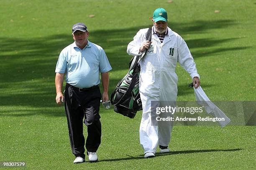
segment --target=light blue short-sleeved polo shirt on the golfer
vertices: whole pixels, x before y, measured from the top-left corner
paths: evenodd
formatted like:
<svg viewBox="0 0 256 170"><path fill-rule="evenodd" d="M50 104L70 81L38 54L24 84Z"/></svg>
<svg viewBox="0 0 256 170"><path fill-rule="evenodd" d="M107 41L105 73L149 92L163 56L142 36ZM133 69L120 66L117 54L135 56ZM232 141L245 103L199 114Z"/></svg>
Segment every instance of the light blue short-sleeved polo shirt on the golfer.
<svg viewBox="0 0 256 170"><path fill-rule="evenodd" d="M100 84L100 72L112 69L102 47L88 40L84 49L72 43L59 54L55 72L66 73L66 82L75 87Z"/></svg>

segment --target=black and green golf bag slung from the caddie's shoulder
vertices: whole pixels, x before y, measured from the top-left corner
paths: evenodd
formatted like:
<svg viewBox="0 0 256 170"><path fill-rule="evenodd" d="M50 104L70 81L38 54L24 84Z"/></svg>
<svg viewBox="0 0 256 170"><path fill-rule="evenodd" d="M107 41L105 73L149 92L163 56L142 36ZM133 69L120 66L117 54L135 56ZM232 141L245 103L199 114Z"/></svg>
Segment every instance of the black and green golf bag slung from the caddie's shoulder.
<svg viewBox="0 0 256 170"><path fill-rule="evenodd" d="M146 33L146 40L151 40L149 28ZM139 93L139 77L141 67L139 61L146 54L146 50L141 55L134 56L129 63L130 69L123 79L118 82L114 92L111 94L111 103L114 111L124 116L135 117L137 111L142 110L141 96Z"/></svg>

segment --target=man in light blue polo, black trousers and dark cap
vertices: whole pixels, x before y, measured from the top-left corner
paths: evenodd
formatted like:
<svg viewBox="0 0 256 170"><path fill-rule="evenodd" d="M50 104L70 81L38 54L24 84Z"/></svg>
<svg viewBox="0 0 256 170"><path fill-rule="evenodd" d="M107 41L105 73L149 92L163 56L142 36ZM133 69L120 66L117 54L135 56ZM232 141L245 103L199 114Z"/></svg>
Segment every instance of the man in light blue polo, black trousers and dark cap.
<svg viewBox="0 0 256 170"><path fill-rule="evenodd" d="M74 42L61 51L56 65L56 103L65 104L70 145L76 157L74 163L85 161L83 119L88 133L85 144L88 159L97 161L101 138L100 99L108 101L108 71L112 68L102 47L88 40L89 32L84 23L73 25L72 35ZM64 98L61 89L65 73Z"/></svg>

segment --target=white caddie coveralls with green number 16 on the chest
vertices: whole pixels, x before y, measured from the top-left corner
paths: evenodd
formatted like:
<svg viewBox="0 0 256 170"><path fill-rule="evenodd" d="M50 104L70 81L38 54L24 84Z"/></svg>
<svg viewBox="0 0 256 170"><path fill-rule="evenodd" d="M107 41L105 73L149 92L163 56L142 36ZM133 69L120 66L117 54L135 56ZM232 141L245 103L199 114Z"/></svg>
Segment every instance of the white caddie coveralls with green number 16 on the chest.
<svg viewBox="0 0 256 170"><path fill-rule="evenodd" d="M151 101L176 101L178 77L175 73L177 61L193 77L199 77L195 62L186 42L169 27L163 42L154 34L151 45L140 61L140 83L143 114L140 125L140 143L144 153L156 153L159 145L168 146L171 140L172 122L151 125ZM146 40L148 28L141 29L128 44L129 55L140 55L139 49ZM161 107L152 106L152 107ZM152 115L153 116L153 115Z"/></svg>

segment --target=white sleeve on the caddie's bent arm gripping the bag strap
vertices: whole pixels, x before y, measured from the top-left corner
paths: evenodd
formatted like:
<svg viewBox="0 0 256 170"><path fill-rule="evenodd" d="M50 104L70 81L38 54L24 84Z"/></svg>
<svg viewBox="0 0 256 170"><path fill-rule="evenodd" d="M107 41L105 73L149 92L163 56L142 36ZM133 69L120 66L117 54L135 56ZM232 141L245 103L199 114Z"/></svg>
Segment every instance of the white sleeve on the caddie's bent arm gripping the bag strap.
<svg viewBox="0 0 256 170"><path fill-rule="evenodd" d="M141 52L139 52L140 47L145 41L146 38L146 33L145 30L147 31L148 29L142 29L137 32L137 34L133 37L133 41L131 41L128 46L127 46L127 53L129 55L141 55Z"/></svg>

